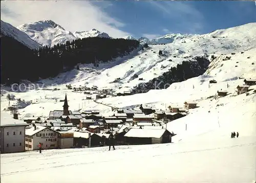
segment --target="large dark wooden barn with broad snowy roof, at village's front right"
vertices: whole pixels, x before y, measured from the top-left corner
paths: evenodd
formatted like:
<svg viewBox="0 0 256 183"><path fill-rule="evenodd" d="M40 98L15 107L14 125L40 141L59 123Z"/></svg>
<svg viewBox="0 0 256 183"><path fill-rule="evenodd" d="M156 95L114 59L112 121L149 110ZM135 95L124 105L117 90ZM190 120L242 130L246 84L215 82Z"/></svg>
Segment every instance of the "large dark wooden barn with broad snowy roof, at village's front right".
<svg viewBox="0 0 256 183"><path fill-rule="evenodd" d="M124 135L125 142L131 145L170 143L172 134L166 129L131 128Z"/></svg>

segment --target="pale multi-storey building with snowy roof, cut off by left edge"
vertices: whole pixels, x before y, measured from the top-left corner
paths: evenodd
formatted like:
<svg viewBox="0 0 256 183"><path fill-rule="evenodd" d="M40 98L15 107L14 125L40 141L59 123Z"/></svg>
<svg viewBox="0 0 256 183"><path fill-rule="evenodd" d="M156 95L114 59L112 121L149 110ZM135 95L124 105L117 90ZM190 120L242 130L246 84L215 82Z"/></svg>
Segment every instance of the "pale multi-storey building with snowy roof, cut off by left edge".
<svg viewBox="0 0 256 183"><path fill-rule="evenodd" d="M25 128L28 124L12 118L12 115L1 112L1 153L25 151Z"/></svg>

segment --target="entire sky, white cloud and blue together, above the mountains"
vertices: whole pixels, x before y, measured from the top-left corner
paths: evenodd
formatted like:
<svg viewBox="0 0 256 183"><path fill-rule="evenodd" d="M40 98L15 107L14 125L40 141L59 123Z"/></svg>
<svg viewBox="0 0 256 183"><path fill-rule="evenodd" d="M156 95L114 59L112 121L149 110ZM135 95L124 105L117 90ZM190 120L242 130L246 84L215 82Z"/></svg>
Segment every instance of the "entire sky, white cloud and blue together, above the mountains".
<svg viewBox="0 0 256 183"><path fill-rule="evenodd" d="M256 6L253 1L1 1L1 19L15 27L51 19L71 32L156 38L256 22Z"/></svg>

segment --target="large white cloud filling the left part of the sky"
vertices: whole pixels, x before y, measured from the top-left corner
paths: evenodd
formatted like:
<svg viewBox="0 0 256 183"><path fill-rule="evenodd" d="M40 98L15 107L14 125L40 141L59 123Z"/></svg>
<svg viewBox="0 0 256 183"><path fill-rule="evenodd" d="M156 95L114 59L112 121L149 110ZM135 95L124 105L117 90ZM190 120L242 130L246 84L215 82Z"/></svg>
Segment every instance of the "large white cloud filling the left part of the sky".
<svg viewBox="0 0 256 183"><path fill-rule="evenodd" d="M105 5L104 8L111 6ZM2 1L1 19L14 27L51 19L71 32L97 29L112 37L130 35L118 29L125 24L104 13L104 8L89 1Z"/></svg>

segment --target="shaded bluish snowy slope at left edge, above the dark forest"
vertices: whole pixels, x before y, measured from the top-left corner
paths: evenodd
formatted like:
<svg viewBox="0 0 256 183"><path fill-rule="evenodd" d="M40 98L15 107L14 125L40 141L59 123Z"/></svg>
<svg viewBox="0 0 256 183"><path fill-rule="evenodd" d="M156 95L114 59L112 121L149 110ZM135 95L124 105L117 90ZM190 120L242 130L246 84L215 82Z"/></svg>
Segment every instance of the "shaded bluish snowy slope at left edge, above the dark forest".
<svg viewBox="0 0 256 183"><path fill-rule="evenodd" d="M26 33L16 29L15 27L8 24L7 22L4 22L3 20L1 20L1 35L13 37L30 49L39 49L41 47L40 44L32 40Z"/></svg>

